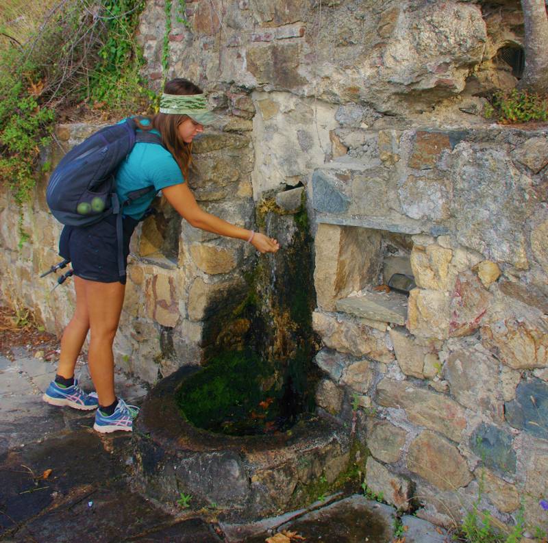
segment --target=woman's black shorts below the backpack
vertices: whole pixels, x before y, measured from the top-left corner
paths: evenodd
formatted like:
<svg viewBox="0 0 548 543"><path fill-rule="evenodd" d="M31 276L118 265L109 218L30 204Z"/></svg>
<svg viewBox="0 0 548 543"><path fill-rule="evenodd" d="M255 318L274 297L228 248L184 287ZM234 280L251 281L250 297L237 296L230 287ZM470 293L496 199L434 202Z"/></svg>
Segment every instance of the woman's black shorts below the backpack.
<svg viewBox="0 0 548 543"><path fill-rule="evenodd" d="M123 218L124 268L129 255L129 239L138 224L131 217ZM59 254L71 261L74 275L101 283L125 284L118 271L116 217L109 216L90 226L65 226L59 240Z"/></svg>

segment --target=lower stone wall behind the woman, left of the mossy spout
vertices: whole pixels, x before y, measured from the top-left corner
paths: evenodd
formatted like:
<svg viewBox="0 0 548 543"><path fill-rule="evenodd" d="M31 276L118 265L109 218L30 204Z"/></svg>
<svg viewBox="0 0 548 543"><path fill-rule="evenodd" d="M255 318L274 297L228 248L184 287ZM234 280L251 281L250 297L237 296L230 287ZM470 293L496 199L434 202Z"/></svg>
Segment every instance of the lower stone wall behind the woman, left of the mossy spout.
<svg viewBox="0 0 548 543"><path fill-rule="evenodd" d="M42 159L55 165L66 149L97 128L60 125L60 144L45 149ZM208 134L196 142L194 151L197 171L190 184L200 205L234 224L252 227L249 136L229 131ZM55 278L39 278L60 261L61 225L48 210L46 186L44 175L32 204L21 212L8 194L1 194L1 292L11 305L31 307L45 329L60 336L73 314L75 295L71 279L52 292ZM140 223L132 237L125 303L114 340L116 364L149 383L180 366L201 363L204 347L214 340L207 332L212 316L245 295L242 269L252 254L251 246L240 240L190 227L158 200L158 213Z"/></svg>

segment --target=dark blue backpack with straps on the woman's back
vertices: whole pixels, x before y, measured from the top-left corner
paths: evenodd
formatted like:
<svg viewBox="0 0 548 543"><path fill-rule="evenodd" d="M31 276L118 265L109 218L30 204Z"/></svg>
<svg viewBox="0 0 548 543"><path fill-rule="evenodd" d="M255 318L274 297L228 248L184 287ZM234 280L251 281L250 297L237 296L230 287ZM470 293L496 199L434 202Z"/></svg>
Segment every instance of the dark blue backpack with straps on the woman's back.
<svg viewBox="0 0 548 543"><path fill-rule="evenodd" d="M116 194L116 171L136 142L162 144L160 136L136 131L133 118L105 127L66 153L55 167L46 190L46 201L53 216L64 225L88 226L116 215L118 269L125 276L123 264L123 207L155 190L153 186L134 190L119 201Z"/></svg>

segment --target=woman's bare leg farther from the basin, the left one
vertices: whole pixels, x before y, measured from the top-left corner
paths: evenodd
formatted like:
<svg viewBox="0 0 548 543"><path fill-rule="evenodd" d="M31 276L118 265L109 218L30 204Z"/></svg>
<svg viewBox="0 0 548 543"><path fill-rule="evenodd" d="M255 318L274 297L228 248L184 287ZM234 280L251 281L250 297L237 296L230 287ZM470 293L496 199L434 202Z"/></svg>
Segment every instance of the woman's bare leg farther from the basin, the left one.
<svg viewBox="0 0 548 543"><path fill-rule="evenodd" d="M76 360L80 351L82 351L82 345L90 328L86 288L83 281L84 279L74 277L76 310L71 322L66 325L61 338L61 354L57 373L66 379L70 379L74 375Z"/></svg>

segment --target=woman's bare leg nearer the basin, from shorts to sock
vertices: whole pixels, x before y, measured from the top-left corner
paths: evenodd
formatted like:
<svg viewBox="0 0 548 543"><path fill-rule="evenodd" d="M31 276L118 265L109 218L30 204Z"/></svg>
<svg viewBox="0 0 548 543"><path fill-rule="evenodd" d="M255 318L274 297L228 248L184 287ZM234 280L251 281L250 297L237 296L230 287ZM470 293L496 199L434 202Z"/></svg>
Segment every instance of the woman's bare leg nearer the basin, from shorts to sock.
<svg viewBox="0 0 548 543"><path fill-rule="evenodd" d="M90 375L99 396L99 405L111 405L114 395L114 356L112 342L116 336L125 285L122 283L99 283L81 279L86 292L90 323L90 348L88 365Z"/></svg>

